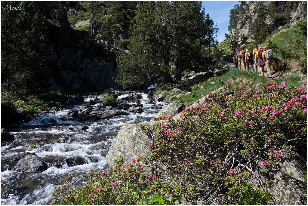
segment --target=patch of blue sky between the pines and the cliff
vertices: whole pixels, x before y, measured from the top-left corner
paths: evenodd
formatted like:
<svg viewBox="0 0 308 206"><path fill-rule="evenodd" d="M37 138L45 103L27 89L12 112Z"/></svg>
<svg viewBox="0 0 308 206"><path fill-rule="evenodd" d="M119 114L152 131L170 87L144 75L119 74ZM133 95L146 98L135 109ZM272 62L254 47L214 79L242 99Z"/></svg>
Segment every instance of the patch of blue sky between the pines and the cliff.
<svg viewBox="0 0 308 206"><path fill-rule="evenodd" d="M237 1L203 1L202 6L205 7L205 14L209 14L219 27L217 33L218 43L225 39L225 33L228 32L229 26L229 11L233 6L239 4Z"/></svg>

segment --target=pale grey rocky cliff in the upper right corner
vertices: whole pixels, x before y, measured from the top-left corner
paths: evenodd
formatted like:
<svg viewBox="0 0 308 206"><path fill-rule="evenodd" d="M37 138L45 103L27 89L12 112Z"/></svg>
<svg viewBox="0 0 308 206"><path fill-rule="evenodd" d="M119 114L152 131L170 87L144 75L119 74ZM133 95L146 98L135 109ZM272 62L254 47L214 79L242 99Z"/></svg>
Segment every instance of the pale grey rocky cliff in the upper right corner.
<svg viewBox="0 0 308 206"><path fill-rule="evenodd" d="M243 21L243 19L251 19L252 22L257 18L257 8L259 6L265 6L266 10L269 10L270 7L270 1L265 1L265 2L256 2L256 1L249 1L245 6L245 12L241 17L237 18L237 27L231 30L230 35L235 34L236 29L238 30L239 36L245 35L247 37L247 42L252 42L252 33L249 29L249 22L248 21ZM286 12L286 7L287 7L287 1L276 1L275 2L275 14L280 15L280 14L285 14ZM266 11L265 11L266 13ZM265 14L266 15L266 14ZM294 25L298 21L302 21L305 17L307 16L307 2L305 1L300 1L298 3L298 7L296 10L290 11L290 17L291 20L287 22L284 25L280 25L281 23L275 21L270 17L270 15L266 16L265 23L269 25L270 30L276 30L278 28L288 28L292 25Z"/></svg>

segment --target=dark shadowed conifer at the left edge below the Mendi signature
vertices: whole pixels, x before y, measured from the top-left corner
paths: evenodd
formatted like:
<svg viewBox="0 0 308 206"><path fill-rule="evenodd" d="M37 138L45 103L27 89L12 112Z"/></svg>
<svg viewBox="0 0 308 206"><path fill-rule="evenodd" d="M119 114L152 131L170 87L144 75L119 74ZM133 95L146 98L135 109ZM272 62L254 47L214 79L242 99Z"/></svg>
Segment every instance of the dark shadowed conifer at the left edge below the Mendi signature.
<svg viewBox="0 0 308 206"><path fill-rule="evenodd" d="M18 7L20 2L10 2ZM18 95L35 94L46 85L46 50L43 14L37 2L24 2L22 10L1 13L2 89Z"/></svg>

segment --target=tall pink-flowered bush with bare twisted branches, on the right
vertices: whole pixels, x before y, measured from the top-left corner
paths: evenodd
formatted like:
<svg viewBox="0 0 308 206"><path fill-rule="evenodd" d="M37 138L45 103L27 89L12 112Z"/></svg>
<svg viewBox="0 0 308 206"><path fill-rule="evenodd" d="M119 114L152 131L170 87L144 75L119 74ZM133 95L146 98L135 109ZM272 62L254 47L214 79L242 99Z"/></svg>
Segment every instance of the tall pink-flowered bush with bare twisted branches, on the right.
<svg viewBox="0 0 308 206"><path fill-rule="evenodd" d="M157 178L198 191L187 192L186 201L266 204L269 194L253 189L250 180L262 188L263 178L278 172L294 152L306 152L307 91L286 87L267 83L261 91L231 91L227 81L224 93L185 107L179 121L160 123L147 163L159 160L153 164Z"/></svg>

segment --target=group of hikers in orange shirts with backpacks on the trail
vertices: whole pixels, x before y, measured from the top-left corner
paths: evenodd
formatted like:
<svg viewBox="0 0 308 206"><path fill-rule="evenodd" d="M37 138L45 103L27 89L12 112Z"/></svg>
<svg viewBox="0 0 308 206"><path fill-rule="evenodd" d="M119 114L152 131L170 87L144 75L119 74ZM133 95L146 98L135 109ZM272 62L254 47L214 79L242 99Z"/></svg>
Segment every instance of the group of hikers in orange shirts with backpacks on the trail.
<svg viewBox="0 0 308 206"><path fill-rule="evenodd" d="M235 67L243 70L249 71L249 66L251 67L251 71L260 72L263 76L264 68L266 68L268 77L270 80L273 80L272 76L272 64L273 64L274 54L271 49L267 49L266 46L259 47L255 46L253 51L249 49L244 50L241 48L240 51L234 53L233 62Z"/></svg>

